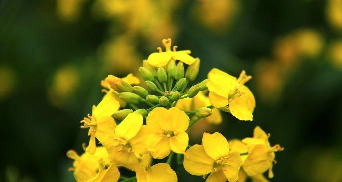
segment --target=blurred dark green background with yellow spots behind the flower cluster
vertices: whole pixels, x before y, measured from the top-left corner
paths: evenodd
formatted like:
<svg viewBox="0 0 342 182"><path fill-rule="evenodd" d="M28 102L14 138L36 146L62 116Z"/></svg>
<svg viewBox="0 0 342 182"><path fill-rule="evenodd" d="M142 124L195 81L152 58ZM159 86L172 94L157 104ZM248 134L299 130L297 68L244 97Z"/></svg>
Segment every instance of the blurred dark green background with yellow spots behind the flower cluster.
<svg viewBox="0 0 342 182"><path fill-rule="evenodd" d="M88 141L100 80L136 74L163 38L201 59L197 81L253 76L253 122L199 129L259 125L285 147L271 181L342 182L342 0L0 0L0 181L74 181L65 153Z"/></svg>

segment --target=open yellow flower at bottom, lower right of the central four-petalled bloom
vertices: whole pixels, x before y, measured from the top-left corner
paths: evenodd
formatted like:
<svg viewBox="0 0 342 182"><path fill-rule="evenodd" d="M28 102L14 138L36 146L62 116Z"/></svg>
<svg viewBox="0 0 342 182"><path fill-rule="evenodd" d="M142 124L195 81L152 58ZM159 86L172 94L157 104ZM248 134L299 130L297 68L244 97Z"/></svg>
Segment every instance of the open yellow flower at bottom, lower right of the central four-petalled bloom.
<svg viewBox="0 0 342 182"><path fill-rule="evenodd" d="M229 149L222 134L204 133L202 145L190 147L184 154L184 168L192 175L207 175L206 182L236 182L242 164L240 153Z"/></svg>

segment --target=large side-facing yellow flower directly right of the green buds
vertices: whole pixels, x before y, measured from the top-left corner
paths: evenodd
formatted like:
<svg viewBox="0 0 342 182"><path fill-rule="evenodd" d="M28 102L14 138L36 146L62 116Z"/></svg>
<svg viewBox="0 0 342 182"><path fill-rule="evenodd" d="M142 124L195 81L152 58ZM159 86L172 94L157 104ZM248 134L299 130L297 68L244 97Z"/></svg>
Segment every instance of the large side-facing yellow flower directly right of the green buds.
<svg viewBox="0 0 342 182"><path fill-rule="evenodd" d="M209 100L214 107L225 107L223 111L229 109L229 112L239 120L253 120L254 95L244 86L244 83L252 78L251 76L247 76L245 71L242 71L237 79L214 68L209 72L208 78Z"/></svg>

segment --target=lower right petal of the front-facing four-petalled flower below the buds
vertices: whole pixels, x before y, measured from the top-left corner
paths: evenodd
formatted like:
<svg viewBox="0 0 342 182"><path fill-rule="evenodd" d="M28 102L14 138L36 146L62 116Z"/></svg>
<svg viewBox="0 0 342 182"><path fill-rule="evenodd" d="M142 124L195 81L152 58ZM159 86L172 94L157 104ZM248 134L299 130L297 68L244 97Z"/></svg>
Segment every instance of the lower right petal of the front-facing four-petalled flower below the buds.
<svg viewBox="0 0 342 182"><path fill-rule="evenodd" d="M179 132L170 138L171 150L175 153L182 154L189 145L189 136L186 132Z"/></svg>

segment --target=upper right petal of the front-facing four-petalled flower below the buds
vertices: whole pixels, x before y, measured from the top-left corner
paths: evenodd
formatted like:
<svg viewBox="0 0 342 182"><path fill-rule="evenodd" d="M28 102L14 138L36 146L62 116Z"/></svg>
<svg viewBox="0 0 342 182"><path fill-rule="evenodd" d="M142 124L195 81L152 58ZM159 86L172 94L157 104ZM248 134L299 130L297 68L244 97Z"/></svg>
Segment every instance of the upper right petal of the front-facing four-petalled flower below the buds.
<svg viewBox="0 0 342 182"><path fill-rule="evenodd" d="M185 132L189 127L189 117L177 107L172 107L168 110L168 119L166 122L171 123L170 129L173 132Z"/></svg>

